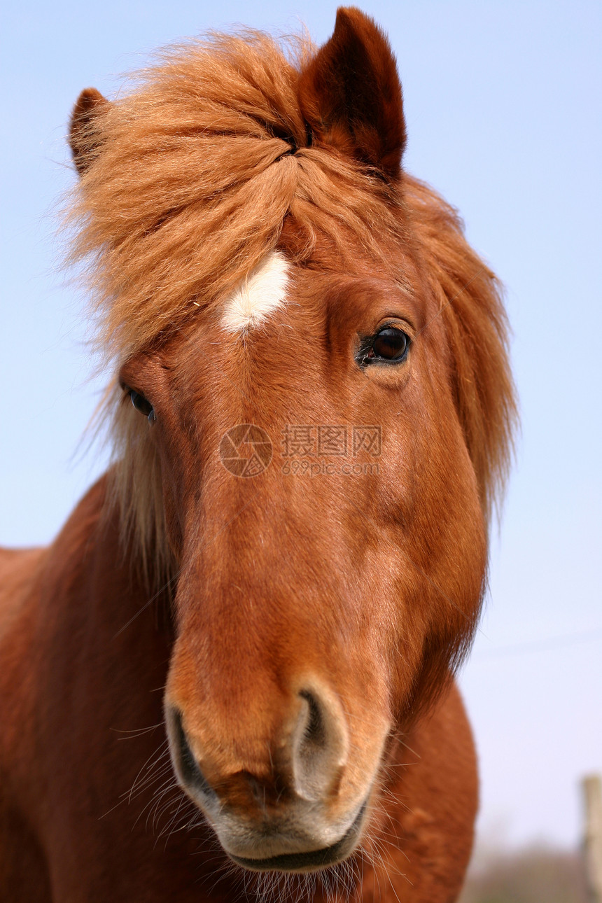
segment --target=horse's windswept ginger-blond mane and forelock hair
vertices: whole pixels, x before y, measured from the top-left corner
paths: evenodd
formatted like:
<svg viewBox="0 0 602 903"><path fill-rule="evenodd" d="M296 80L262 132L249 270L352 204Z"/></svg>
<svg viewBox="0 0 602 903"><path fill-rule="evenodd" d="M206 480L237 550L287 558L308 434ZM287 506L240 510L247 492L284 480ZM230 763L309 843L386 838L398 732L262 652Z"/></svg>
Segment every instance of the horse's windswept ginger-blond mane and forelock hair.
<svg viewBox="0 0 602 903"><path fill-rule="evenodd" d="M488 513L514 419L495 277L427 186L404 176L400 191L334 148L311 146L297 84L313 52L263 33L211 35L163 52L95 117L69 219L97 346L115 367L217 303L276 246L301 264L319 236L345 256L351 235L390 271L383 247L409 229L447 326L458 416ZM287 218L295 228L283 231ZM169 573L159 463L145 424L117 395L107 411L125 535L147 569Z"/></svg>

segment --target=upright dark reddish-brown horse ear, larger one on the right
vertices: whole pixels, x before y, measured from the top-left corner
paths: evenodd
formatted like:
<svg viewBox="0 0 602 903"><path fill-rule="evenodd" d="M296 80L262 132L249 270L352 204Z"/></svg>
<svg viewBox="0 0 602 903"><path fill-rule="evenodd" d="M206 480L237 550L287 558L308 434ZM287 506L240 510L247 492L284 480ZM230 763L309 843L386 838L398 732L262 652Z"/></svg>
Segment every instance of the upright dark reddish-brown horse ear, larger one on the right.
<svg viewBox="0 0 602 903"><path fill-rule="evenodd" d="M391 46L373 19L339 7L332 37L301 71L299 100L315 138L388 179L399 176L402 86Z"/></svg>

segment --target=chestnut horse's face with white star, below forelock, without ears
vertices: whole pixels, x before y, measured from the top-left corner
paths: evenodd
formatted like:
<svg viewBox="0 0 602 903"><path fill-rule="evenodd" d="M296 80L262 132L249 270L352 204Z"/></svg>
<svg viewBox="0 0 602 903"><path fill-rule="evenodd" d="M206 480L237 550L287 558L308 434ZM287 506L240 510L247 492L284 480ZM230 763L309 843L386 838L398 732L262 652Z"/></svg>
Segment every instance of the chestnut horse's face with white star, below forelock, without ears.
<svg viewBox="0 0 602 903"><path fill-rule="evenodd" d="M478 609L483 517L445 335L395 253L403 283L375 261L342 273L273 252L121 373L153 408L149 425L131 415L180 567L172 758L248 868L355 847L392 731Z"/></svg>

